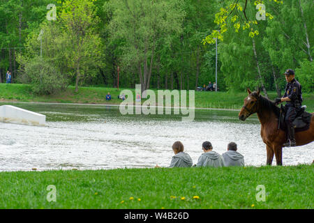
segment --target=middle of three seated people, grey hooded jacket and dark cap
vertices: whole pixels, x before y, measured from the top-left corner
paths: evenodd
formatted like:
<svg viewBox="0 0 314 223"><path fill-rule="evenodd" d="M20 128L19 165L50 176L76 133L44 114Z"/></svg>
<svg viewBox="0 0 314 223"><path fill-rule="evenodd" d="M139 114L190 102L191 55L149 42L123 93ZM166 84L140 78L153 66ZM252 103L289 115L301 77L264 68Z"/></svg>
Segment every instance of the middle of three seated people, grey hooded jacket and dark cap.
<svg viewBox="0 0 314 223"><path fill-rule="evenodd" d="M204 153L198 158L196 167L223 167L223 157L213 151L213 146L209 141L202 144Z"/></svg>

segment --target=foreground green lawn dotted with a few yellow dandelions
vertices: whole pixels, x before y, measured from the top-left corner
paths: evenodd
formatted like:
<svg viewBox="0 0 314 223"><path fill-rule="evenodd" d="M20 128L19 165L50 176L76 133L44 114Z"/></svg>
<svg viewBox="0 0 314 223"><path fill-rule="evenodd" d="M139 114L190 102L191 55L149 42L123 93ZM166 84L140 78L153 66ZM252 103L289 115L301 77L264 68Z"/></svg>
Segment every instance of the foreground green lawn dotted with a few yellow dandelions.
<svg viewBox="0 0 314 223"><path fill-rule="evenodd" d="M313 174L305 164L1 172L0 208L314 208ZM266 201L256 200L257 185Z"/></svg>

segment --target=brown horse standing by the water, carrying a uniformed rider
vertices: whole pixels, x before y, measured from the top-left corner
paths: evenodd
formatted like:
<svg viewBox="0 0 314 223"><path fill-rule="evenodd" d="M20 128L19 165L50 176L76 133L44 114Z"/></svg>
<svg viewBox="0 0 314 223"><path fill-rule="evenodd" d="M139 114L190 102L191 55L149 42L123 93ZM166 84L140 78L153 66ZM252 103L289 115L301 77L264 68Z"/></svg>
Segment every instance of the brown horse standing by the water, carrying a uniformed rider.
<svg viewBox="0 0 314 223"><path fill-rule="evenodd" d="M248 96L244 99L239 118L245 121L251 114L257 113L258 119L262 124L260 135L266 144L267 164L271 165L274 154L276 156L277 165L282 165L282 149L283 144L287 141L286 134L283 130L278 130L278 119L280 109L267 98L260 95L260 90L251 92L248 89ZM309 144L314 141L314 115L312 113L310 128L303 132L296 132L295 139L297 146Z"/></svg>

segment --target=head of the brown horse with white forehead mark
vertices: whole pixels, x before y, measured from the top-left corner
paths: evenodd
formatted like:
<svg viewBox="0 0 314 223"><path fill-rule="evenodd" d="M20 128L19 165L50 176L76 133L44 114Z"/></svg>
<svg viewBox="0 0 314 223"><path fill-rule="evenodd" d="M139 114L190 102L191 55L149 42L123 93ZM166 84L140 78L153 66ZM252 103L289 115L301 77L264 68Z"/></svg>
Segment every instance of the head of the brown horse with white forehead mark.
<svg viewBox="0 0 314 223"><path fill-rule="evenodd" d="M245 121L248 116L257 112L257 104L260 98L260 89L256 92L251 92L250 89L247 89L248 96L244 98L244 105L242 106L241 111L239 112L239 119Z"/></svg>

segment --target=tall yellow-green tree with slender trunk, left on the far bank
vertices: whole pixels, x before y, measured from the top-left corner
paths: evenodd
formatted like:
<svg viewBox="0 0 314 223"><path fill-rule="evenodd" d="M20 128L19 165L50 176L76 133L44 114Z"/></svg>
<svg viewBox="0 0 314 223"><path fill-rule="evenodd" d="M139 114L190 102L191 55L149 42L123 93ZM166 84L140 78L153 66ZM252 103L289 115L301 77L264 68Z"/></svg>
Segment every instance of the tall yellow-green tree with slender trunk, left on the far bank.
<svg viewBox="0 0 314 223"><path fill-rule="evenodd" d="M96 75L95 68L101 66L101 40L94 32L98 17L93 1L67 0L60 13L63 40L67 41L65 57L70 68L75 70L75 92L80 79L84 79L87 72L90 76Z"/></svg>

